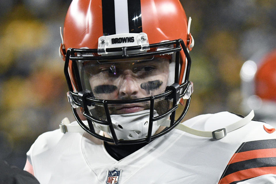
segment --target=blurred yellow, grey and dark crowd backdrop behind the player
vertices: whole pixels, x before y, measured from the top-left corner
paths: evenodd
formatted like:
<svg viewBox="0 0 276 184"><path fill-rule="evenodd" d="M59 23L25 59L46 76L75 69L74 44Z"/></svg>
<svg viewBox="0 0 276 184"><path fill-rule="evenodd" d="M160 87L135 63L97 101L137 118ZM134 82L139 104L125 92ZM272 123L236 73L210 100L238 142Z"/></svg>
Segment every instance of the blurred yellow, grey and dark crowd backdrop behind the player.
<svg viewBox="0 0 276 184"><path fill-rule="evenodd" d="M35 139L74 120L58 48L70 0L0 1L0 158L24 168ZM276 0L181 1L192 18L191 106L185 119L242 115L240 70L276 48Z"/></svg>

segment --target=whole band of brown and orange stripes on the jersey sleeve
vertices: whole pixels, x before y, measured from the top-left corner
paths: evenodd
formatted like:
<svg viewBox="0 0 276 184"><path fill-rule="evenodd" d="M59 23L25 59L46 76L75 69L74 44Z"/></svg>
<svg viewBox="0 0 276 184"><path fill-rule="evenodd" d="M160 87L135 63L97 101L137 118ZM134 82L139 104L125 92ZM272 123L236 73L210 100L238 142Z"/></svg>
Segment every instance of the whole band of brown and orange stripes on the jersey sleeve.
<svg viewBox="0 0 276 184"><path fill-rule="evenodd" d="M218 184L235 184L266 174L276 174L276 139L242 143Z"/></svg>

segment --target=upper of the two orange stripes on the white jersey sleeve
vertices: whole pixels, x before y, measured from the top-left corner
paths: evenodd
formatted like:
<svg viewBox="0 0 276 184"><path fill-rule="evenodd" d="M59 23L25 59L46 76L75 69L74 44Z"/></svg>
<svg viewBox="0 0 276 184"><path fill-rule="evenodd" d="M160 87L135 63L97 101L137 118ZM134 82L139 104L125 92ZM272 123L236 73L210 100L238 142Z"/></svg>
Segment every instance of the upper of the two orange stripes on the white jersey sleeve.
<svg viewBox="0 0 276 184"><path fill-rule="evenodd" d="M240 162L240 161L249 160L253 158L267 158L267 157L276 157L276 148L251 150L247 152L235 153L230 159L228 165L233 164L235 162Z"/></svg>

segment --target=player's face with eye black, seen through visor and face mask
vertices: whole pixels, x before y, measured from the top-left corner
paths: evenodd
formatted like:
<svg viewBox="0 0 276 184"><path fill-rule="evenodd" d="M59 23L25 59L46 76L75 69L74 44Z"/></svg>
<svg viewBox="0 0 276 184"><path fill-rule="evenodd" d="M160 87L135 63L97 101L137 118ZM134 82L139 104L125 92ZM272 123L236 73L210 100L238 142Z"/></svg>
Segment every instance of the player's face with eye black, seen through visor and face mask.
<svg viewBox="0 0 276 184"><path fill-rule="evenodd" d="M170 60L164 57L110 60L84 65L97 99L137 99L163 93L169 76ZM110 114L127 114L149 109L149 104L114 104Z"/></svg>

